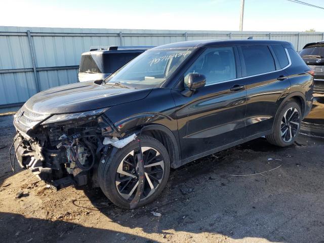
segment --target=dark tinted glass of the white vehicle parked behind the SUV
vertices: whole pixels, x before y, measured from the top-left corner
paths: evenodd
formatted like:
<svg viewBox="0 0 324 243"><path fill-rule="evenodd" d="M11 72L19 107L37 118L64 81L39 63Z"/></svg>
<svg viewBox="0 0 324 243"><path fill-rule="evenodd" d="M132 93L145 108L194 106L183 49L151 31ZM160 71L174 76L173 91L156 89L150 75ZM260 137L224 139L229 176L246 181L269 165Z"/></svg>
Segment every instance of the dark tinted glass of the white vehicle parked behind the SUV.
<svg viewBox="0 0 324 243"><path fill-rule="evenodd" d="M141 53L92 53L82 55L79 72L113 73Z"/></svg>

